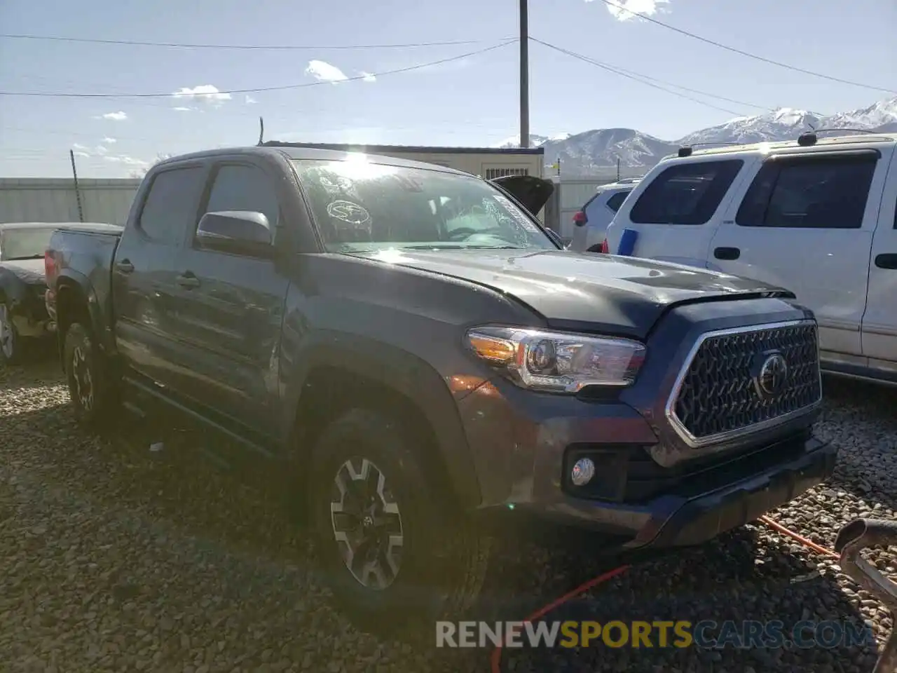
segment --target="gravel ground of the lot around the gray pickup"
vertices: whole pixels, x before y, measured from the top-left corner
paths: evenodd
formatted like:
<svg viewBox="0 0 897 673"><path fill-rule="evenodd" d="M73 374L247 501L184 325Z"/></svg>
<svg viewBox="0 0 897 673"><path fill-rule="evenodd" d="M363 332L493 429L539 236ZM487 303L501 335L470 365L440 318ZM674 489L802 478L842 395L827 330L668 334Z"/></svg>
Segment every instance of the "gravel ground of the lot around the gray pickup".
<svg viewBox="0 0 897 673"><path fill-rule="evenodd" d="M826 395L818 433L840 444L837 473L772 518L831 547L847 521L897 509L897 391L828 381ZM489 670L488 650L355 632L307 572L309 550L266 476L238 479L196 450L217 440L131 420L91 437L66 399L54 362L0 370L0 671ZM895 551L871 558L897 580ZM503 541L484 604L519 619L607 567L581 549ZM879 641L893 626L835 564L759 524L640 564L549 618L866 620ZM598 647L509 650L502 667L847 673L871 671L876 656Z"/></svg>

